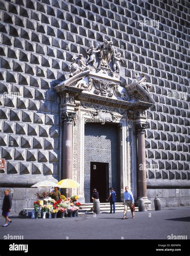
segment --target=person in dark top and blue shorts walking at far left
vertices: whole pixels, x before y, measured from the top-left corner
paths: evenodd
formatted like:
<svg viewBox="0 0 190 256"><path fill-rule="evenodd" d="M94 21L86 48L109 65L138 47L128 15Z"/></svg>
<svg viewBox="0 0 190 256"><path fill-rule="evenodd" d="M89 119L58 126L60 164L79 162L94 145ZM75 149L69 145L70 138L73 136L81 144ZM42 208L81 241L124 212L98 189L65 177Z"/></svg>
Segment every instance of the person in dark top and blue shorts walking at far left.
<svg viewBox="0 0 190 256"><path fill-rule="evenodd" d="M12 220L8 218L8 215L12 207L12 199L9 193L10 193L9 189L4 190L5 196L4 196L3 205L2 205L2 216L5 218L5 224L2 225L2 227L7 227L12 222Z"/></svg>

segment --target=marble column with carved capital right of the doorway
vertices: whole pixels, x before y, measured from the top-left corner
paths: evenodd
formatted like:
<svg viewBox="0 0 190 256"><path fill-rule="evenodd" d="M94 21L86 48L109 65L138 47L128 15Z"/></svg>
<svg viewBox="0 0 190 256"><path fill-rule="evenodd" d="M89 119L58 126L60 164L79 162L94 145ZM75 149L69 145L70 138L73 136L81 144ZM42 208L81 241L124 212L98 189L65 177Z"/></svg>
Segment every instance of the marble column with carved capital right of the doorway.
<svg viewBox="0 0 190 256"><path fill-rule="evenodd" d="M138 157L138 198L147 199L146 185L146 155L145 155L145 129L146 123L135 124L137 132L137 157Z"/></svg>

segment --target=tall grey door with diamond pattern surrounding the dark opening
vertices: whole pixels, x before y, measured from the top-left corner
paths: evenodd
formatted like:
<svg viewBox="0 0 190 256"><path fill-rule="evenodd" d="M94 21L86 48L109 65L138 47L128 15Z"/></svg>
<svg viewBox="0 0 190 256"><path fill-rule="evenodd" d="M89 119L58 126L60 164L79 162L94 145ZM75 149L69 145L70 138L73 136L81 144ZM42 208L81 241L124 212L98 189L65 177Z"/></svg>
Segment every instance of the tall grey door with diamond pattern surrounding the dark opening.
<svg viewBox="0 0 190 256"><path fill-rule="evenodd" d="M85 203L90 202L90 162L109 163L109 186L116 193L118 186L118 147L117 127L111 124L85 124ZM106 188L105 188L106 189ZM118 193L119 195L119 193Z"/></svg>

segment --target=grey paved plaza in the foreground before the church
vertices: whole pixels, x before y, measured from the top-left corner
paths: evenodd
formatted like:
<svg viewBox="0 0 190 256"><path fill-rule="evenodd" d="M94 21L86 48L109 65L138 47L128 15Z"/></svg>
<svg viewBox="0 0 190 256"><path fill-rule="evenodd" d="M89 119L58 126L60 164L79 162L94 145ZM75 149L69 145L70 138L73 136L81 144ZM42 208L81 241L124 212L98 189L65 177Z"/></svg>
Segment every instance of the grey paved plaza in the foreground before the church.
<svg viewBox="0 0 190 256"><path fill-rule="evenodd" d="M170 207L161 211L135 212L135 219L121 219L122 213L79 215L64 219L26 219L12 217L8 227L2 227L4 236L23 236L24 239L162 239L168 236L190 238L190 207ZM184 237L186 238L186 237Z"/></svg>

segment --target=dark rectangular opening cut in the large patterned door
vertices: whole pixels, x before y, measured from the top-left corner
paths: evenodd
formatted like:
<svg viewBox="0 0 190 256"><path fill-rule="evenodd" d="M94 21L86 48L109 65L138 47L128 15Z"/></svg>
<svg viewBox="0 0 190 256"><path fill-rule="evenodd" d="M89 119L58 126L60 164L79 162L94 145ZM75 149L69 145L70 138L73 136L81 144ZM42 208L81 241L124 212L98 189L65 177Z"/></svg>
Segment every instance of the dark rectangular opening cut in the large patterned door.
<svg viewBox="0 0 190 256"><path fill-rule="evenodd" d="M101 162L91 162L90 165L90 191L92 194L93 188L97 189L100 203L106 203L109 193L108 167L108 163Z"/></svg>

